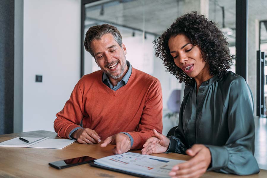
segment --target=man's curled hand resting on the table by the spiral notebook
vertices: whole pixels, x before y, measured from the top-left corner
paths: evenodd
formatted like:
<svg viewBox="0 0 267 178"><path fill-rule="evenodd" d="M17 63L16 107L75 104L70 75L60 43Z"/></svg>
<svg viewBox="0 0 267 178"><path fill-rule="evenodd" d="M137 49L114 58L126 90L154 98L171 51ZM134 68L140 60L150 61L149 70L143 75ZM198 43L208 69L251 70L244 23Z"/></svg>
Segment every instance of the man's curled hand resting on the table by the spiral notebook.
<svg viewBox="0 0 267 178"><path fill-rule="evenodd" d="M98 136L96 131L90 128L79 128L71 134L71 137L77 139L82 144L93 144L101 142L101 137Z"/></svg>

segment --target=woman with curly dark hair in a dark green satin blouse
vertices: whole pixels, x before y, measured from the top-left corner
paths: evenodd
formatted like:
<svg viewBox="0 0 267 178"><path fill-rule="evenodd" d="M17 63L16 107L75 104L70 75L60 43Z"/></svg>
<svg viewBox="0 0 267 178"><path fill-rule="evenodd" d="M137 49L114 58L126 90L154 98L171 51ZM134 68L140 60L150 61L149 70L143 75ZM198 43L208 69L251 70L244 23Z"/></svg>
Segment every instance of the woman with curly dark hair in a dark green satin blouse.
<svg viewBox="0 0 267 178"><path fill-rule="evenodd" d="M227 71L233 56L215 23L197 12L185 14L154 43L167 71L186 86L174 135L154 130L142 154L192 156L174 166L171 177L200 177L207 170L258 173L252 93L244 78Z"/></svg>

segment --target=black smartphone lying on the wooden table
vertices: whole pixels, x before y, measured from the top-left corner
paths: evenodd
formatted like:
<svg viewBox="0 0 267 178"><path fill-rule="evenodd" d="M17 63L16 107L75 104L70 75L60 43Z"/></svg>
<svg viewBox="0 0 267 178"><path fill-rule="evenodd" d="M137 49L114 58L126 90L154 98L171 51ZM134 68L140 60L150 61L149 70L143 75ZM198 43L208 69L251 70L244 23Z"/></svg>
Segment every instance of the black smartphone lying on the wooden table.
<svg viewBox="0 0 267 178"><path fill-rule="evenodd" d="M48 163L50 166L56 169L63 169L63 168L68 168L71 166L76 166L80 164L85 164L85 163L90 163L93 162L96 158L92 158L90 156L82 156L78 158L71 158L71 159L66 159L66 160L61 160L61 161L55 161L52 163Z"/></svg>

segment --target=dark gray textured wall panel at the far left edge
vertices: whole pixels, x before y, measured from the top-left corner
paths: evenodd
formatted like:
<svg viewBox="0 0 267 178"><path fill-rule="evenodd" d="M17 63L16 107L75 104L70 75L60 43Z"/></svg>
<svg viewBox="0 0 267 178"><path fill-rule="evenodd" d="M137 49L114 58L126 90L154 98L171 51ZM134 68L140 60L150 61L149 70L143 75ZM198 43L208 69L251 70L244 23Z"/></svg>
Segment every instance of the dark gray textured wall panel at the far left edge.
<svg viewBox="0 0 267 178"><path fill-rule="evenodd" d="M0 0L0 134L13 133L14 0Z"/></svg>

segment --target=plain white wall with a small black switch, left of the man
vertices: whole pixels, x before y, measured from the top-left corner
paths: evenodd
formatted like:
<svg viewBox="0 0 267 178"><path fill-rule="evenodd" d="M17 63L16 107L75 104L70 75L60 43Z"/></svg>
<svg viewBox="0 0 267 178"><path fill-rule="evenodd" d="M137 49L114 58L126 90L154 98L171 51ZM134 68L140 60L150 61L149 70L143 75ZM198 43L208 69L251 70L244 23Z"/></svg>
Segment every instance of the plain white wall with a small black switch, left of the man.
<svg viewBox="0 0 267 178"><path fill-rule="evenodd" d="M80 0L24 0L23 132L54 131L80 78L80 19Z"/></svg>

